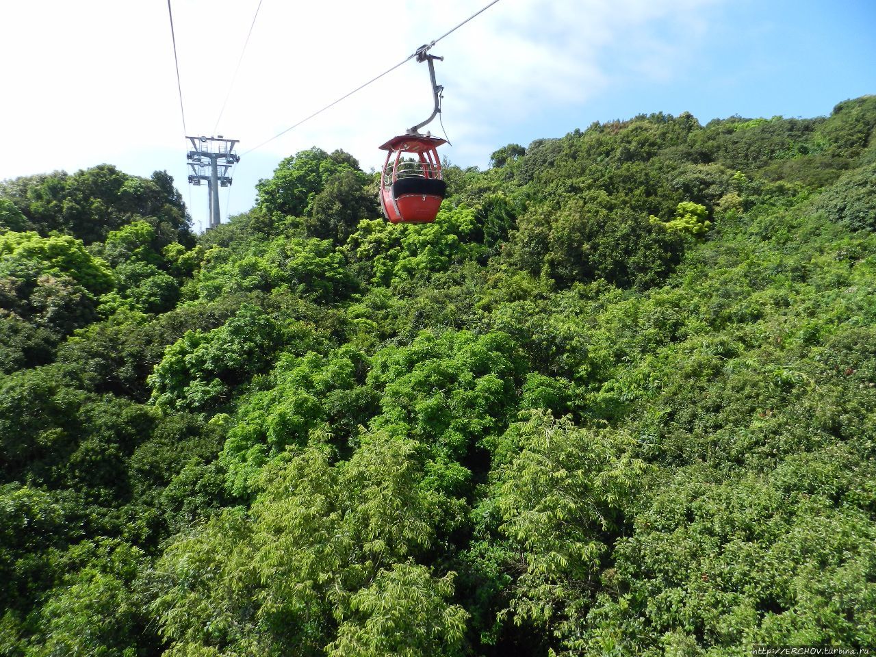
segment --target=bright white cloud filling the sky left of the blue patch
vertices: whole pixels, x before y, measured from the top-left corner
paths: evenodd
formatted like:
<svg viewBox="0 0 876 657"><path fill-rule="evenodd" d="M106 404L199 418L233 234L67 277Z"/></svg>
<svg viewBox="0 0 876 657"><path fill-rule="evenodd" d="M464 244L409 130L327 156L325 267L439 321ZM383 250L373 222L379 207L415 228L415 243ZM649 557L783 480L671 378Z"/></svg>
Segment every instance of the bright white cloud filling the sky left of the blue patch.
<svg viewBox="0 0 876 657"><path fill-rule="evenodd" d="M450 159L484 165L503 135L557 108L585 106L618 81L661 80L702 41L716 0L502 0L435 46ZM258 0L173 0L190 134L210 134ZM218 132L245 152L477 11L485 0L321 3L263 0ZM111 162L166 168L184 188L186 144L166 4L7 3L0 178ZM618 55L618 53L622 53ZM311 145L382 164L377 146L431 111L413 62L244 157L232 210L289 153ZM557 132L574 125L558 126ZM435 122L429 128L440 132ZM540 135L536 135L540 136ZM240 187L244 187L240 189ZM193 215L206 202L195 189ZM223 201L224 205L224 201Z"/></svg>

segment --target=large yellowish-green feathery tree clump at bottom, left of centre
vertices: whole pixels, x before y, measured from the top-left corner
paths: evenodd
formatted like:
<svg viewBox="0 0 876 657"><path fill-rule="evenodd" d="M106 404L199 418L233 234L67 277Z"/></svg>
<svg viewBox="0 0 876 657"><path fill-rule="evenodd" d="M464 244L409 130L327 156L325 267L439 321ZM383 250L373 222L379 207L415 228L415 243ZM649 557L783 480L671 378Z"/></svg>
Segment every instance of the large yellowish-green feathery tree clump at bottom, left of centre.
<svg viewBox="0 0 876 657"><path fill-rule="evenodd" d="M349 463L333 466L330 454L318 441L286 452L259 476L251 512L225 511L166 550L153 610L172 650L318 655L364 636L459 646L465 612L447 601L452 576L408 562L431 546L420 447L375 433ZM388 606L372 606L384 593ZM386 614L405 634L382 632Z"/></svg>

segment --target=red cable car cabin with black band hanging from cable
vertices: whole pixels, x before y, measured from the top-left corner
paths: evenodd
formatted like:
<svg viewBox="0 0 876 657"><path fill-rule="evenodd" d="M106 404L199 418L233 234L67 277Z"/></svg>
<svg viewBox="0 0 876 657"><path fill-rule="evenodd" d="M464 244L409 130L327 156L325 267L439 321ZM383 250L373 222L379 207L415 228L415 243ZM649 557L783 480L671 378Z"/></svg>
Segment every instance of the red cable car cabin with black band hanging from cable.
<svg viewBox="0 0 876 657"><path fill-rule="evenodd" d="M447 192L435 150L442 144L447 141L426 135L401 135L380 146L387 152L380 177L380 205L390 222L434 222ZM405 153L415 154L417 159L403 159Z"/></svg>

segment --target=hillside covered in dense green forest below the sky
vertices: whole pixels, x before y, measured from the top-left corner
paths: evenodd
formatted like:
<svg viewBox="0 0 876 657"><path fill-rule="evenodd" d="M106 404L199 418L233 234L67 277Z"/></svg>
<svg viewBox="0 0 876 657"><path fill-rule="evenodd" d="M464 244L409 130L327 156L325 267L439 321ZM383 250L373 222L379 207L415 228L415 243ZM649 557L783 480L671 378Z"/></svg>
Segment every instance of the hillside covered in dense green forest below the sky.
<svg viewBox="0 0 876 657"><path fill-rule="evenodd" d="M0 654L876 646L876 96L445 178L0 183Z"/></svg>

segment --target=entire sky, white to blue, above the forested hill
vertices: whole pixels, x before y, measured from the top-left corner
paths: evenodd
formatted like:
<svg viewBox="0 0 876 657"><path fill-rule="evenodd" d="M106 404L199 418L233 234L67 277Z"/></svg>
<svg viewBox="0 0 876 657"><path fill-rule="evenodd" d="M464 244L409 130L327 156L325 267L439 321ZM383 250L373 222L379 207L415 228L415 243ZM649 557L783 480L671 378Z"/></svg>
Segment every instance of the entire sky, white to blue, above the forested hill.
<svg viewBox="0 0 876 657"><path fill-rule="evenodd" d="M486 0L262 0L218 133L245 152L446 32ZM206 187L187 189L166 4L31 0L4 4L0 178L102 162L166 169L198 228ZM211 134L258 0L173 0L189 134ZM593 121L690 111L815 117L876 93L876 0L501 0L434 52L445 86L445 154L486 166L511 142ZM402 35L391 38L390 35ZM413 62L244 156L225 208L250 208L284 156L343 148L367 170L377 146L427 116ZM435 131L440 127L435 125Z"/></svg>

